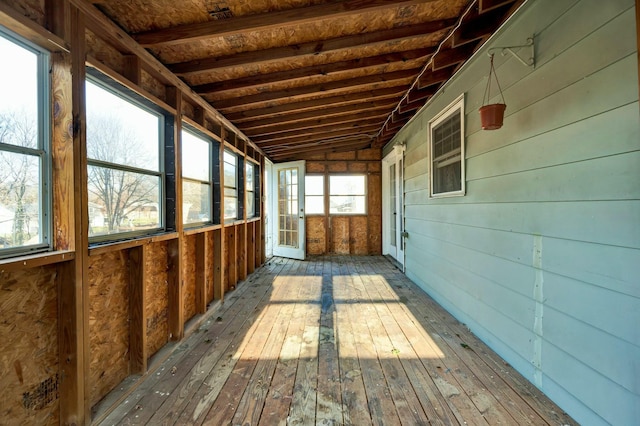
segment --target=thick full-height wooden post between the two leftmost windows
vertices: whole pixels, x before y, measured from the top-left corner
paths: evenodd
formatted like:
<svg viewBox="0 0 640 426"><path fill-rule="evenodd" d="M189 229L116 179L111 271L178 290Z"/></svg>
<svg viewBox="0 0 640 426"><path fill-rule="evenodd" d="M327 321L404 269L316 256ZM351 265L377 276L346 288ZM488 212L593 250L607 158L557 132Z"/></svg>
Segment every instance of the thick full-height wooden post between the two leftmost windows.
<svg viewBox="0 0 640 426"><path fill-rule="evenodd" d="M73 225L69 235L69 249L76 250L72 262L60 268L58 280L58 345L60 374L60 423L88 424L91 421L89 395L89 211L87 194L87 141L86 141L86 96L85 96L85 24L78 9L69 10L71 55L54 57L54 84L57 90L66 90L70 97L61 98L60 111L66 115L62 123L72 135L73 151L71 165L73 190L63 200L73 206L73 218L63 219ZM68 81L61 81L69 77ZM54 101L56 99L54 98ZM58 117L60 119L60 117ZM54 117L54 123L56 118ZM54 124L55 125L55 124ZM54 129L56 134L59 134ZM59 142L59 141L58 141ZM56 142L57 143L57 142ZM60 159L54 160L58 162ZM55 174L56 172L54 172ZM57 183L61 183L56 178ZM59 200L62 201L62 200ZM59 211L62 214L62 211Z"/></svg>

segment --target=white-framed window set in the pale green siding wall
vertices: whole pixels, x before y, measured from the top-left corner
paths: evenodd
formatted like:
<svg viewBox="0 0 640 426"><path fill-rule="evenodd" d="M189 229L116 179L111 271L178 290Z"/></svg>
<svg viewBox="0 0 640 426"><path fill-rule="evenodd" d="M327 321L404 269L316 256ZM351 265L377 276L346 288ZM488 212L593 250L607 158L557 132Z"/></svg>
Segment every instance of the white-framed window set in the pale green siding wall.
<svg viewBox="0 0 640 426"><path fill-rule="evenodd" d="M432 197L464 195L464 97L429 122Z"/></svg>

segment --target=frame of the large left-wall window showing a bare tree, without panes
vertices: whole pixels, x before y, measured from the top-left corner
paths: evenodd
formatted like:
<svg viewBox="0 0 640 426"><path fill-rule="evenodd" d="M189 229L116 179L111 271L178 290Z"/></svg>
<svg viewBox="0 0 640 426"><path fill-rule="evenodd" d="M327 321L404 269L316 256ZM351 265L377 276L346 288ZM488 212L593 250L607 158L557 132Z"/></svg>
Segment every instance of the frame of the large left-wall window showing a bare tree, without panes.
<svg viewBox="0 0 640 426"><path fill-rule="evenodd" d="M109 76L100 73L97 70L93 70L92 68L87 68L87 75L85 79L85 84L87 82L91 82L92 84L98 86L99 88L110 92L112 95L119 97L125 102L128 102L134 105L141 110L152 114L158 118L158 170L151 171L148 169L143 169L135 166L127 166L118 163L106 162L101 160L92 159L89 157L87 152L87 179L89 175L89 166L94 167L103 167L110 168L113 170L119 170L124 172L136 173L144 176L153 176L158 179L158 227L141 229L141 230L133 230L133 231L124 231L124 232L114 232L114 233L106 233L99 235L89 235L89 245L96 245L106 242L116 242L128 239L135 239L146 237L149 235L157 235L163 232L166 232L169 227L173 228L175 224L168 223L168 208L167 208L167 197L168 197L168 184L167 184L167 155L165 150L167 148L167 144L169 142L168 138L171 138L171 142L173 142L173 137L171 135L170 129L167 127L173 123L173 116L167 111L160 108L158 105L153 102L145 99L143 96L139 95L132 89L118 83L117 81L111 79ZM85 92L86 93L86 92ZM88 102L87 102L88 106ZM88 110L88 108L87 108ZM89 121L87 121L87 128L89 127ZM87 132L88 133L88 132ZM87 135L88 139L88 135ZM88 149L87 149L88 151ZM89 182L87 182L87 191L89 190ZM176 206L178 208L178 206ZM180 207L181 208L181 207ZM89 218L91 220L91 218Z"/></svg>

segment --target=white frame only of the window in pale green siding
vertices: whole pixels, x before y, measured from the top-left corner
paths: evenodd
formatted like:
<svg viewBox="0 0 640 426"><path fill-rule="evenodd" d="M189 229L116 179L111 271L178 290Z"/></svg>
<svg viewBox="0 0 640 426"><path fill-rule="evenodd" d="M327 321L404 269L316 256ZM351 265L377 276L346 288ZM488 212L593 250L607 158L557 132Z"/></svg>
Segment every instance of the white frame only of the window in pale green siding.
<svg viewBox="0 0 640 426"><path fill-rule="evenodd" d="M429 148L429 198L461 197L466 195L466 173L465 173L465 109L464 93L458 96L453 102L447 105L435 117L429 120L428 124L428 148ZM437 126L450 119L455 114L460 115L460 189L448 192L435 192L435 159L434 159L434 137L433 133ZM456 151L456 150L454 150ZM452 152L452 151L449 151ZM446 159L451 161L451 158ZM456 161L457 162L457 161Z"/></svg>

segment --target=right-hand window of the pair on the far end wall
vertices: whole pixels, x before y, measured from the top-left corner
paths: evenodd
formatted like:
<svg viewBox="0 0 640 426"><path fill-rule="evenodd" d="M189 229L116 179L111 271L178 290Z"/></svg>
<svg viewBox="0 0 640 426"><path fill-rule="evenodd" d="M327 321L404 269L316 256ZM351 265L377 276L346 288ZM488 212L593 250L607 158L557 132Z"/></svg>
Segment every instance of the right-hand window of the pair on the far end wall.
<svg viewBox="0 0 640 426"><path fill-rule="evenodd" d="M365 175L329 176L329 213L366 214Z"/></svg>

